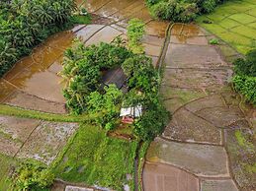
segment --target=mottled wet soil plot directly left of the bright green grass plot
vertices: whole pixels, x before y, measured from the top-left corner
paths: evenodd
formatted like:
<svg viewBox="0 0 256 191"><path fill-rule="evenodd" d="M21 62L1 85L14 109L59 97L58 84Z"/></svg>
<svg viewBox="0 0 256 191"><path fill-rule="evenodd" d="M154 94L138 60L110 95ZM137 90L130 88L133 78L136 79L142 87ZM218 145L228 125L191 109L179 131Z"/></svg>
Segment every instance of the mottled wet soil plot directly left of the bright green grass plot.
<svg viewBox="0 0 256 191"><path fill-rule="evenodd" d="M19 158L33 158L50 163L73 134L77 125L43 121L18 153Z"/></svg>

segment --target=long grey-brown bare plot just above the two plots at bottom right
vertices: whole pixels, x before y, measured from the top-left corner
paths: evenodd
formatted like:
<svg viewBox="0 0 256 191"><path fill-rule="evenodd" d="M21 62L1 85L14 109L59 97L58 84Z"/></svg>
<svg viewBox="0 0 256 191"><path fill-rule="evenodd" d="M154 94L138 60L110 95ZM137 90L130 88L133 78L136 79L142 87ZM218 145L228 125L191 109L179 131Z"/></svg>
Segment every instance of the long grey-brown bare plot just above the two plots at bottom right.
<svg viewBox="0 0 256 191"><path fill-rule="evenodd" d="M227 155L223 147L184 144L156 138L147 152L148 161L161 161L202 177L228 177Z"/></svg>

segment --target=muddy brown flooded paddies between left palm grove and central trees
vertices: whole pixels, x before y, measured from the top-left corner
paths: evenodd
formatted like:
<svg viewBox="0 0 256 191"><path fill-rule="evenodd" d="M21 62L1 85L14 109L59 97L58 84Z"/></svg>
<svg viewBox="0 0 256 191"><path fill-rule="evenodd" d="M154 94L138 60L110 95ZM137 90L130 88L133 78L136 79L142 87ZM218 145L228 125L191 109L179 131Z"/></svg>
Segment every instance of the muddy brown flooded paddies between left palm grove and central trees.
<svg viewBox="0 0 256 191"><path fill-rule="evenodd" d="M0 102L12 102L21 94L64 103L61 70L64 50L71 45L72 32L59 32L34 48L30 56L18 61L0 80ZM15 96L16 95L16 96Z"/></svg>

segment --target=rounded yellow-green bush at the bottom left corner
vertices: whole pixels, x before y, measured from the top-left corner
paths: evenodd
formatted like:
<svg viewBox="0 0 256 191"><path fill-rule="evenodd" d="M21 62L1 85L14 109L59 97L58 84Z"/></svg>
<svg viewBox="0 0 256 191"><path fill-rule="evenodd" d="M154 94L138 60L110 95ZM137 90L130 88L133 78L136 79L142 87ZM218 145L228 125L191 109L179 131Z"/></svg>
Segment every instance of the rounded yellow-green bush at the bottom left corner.
<svg viewBox="0 0 256 191"><path fill-rule="evenodd" d="M21 162L13 175L15 189L42 190L53 183L54 174L37 161Z"/></svg>

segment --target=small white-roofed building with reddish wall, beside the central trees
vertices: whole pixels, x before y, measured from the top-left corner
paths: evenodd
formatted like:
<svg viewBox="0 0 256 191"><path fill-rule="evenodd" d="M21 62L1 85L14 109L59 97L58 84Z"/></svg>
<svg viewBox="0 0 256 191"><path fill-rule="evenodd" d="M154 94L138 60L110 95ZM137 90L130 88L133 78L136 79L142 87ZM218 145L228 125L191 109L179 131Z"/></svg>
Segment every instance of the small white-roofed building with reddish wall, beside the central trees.
<svg viewBox="0 0 256 191"><path fill-rule="evenodd" d="M142 105L138 104L136 106L123 107L120 111L120 116L122 117L123 123L132 124L135 118L142 115Z"/></svg>

